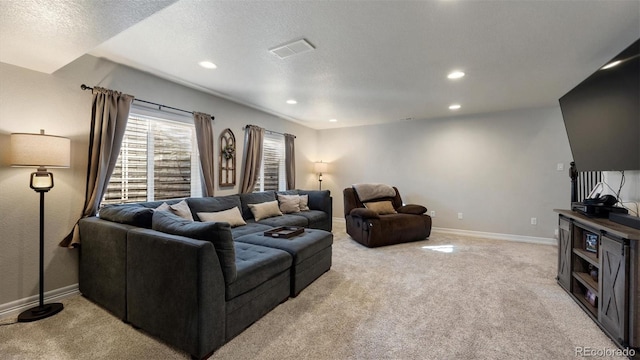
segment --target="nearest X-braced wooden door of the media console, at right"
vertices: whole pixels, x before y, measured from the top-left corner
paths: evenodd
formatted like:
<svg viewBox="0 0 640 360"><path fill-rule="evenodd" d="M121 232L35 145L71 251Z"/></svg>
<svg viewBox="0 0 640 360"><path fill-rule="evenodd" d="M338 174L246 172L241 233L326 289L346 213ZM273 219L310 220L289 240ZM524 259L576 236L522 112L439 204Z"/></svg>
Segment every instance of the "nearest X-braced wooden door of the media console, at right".
<svg viewBox="0 0 640 360"><path fill-rule="evenodd" d="M600 308L598 321L618 340L625 344L627 333L627 252L628 246L607 236L600 241Z"/></svg>

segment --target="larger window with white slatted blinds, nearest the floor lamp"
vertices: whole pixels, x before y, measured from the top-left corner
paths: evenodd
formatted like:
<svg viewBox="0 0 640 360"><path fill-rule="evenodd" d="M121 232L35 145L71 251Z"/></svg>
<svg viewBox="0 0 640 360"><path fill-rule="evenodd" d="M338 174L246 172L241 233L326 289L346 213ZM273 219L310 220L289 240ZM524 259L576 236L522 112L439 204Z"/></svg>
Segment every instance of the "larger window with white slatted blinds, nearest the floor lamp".
<svg viewBox="0 0 640 360"><path fill-rule="evenodd" d="M197 196L202 185L193 123L132 113L102 204Z"/></svg>

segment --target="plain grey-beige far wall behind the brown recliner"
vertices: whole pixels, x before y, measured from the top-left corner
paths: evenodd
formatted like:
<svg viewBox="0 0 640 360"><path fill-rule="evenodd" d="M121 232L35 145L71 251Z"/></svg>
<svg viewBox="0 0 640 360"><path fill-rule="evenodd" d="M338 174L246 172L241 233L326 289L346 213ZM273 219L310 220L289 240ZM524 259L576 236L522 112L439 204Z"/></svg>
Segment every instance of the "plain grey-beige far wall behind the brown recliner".
<svg viewBox="0 0 640 360"><path fill-rule="evenodd" d="M436 227L551 238L553 208L570 202L558 107L323 130L319 144L331 163L324 184L335 216L343 188L381 182L397 186L405 203L436 211Z"/></svg>

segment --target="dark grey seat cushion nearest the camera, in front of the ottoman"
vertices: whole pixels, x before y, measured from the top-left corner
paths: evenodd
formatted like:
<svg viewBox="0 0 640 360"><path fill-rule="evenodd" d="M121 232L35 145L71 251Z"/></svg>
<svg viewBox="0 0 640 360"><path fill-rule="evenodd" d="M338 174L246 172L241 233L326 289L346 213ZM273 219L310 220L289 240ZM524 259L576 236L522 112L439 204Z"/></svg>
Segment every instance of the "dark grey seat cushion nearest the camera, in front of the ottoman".
<svg viewBox="0 0 640 360"><path fill-rule="evenodd" d="M227 301L291 268L292 257L285 251L241 242L234 245L237 277L227 284Z"/></svg>

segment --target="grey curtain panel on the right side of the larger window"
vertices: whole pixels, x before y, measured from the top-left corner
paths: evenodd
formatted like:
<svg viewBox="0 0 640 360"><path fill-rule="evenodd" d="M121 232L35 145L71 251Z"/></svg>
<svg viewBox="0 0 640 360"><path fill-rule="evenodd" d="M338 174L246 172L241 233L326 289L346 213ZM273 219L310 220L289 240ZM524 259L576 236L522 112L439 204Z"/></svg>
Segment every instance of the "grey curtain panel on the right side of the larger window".
<svg viewBox="0 0 640 360"><path fill-rule="evenodd" d="M193 123L196 127L198 152L200 153L200 167L202 168L202 195L213 196L214 172L213 165L213 118L211 115L194 112Z"/></svg>

